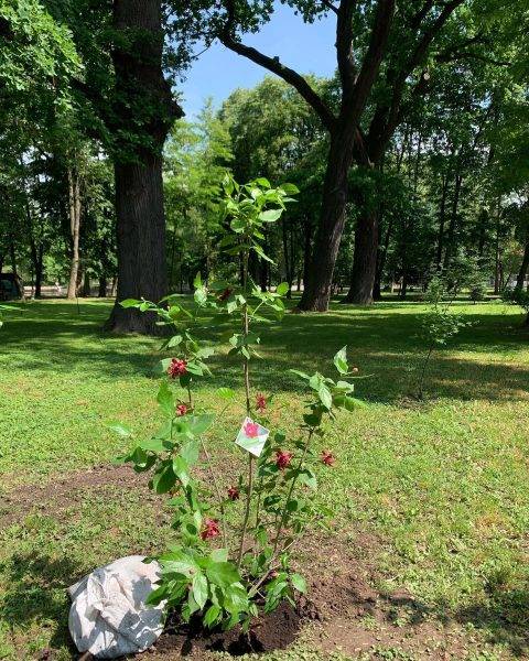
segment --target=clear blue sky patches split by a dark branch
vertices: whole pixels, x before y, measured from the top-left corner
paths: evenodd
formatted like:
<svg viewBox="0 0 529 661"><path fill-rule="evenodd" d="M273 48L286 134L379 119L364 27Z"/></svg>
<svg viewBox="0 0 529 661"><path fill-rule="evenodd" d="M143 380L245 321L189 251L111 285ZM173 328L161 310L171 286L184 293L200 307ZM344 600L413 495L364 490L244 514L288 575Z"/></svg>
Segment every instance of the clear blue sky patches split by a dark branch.
<svg viewBox="0 0 529 661"><path fill-rule="evenodd" d="M284 6L278 6L270 23L259 34L245 36L245 43L300 73L331 76L336 66L334 17L307 25ZM180 86L187 119L193 119L212 97L219 106L238 87L253 87L268 72L215 43L203 53Z"/></svg>

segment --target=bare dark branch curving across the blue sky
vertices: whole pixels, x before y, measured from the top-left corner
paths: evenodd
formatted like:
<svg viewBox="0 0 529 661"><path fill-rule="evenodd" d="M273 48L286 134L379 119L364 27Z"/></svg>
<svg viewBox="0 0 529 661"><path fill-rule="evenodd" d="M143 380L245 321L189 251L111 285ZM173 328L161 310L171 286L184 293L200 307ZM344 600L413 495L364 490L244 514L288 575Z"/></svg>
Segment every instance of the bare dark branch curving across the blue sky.
<svg viewBox="0 0 529 661"><path fill-rule="evenodd" d="M303 76L294 69L281 64L279 57L269 57L257 48L247 46L237 41L234 36L236 25L234 0L226 0L224 7L227 11L227 21L219 33L220 43L230 51L234 51L234 53L251 59L256 64L259 64L272 74L282 78L285 83L292 85L320 117L324 127L332 133L336 127L336 118L322 97L309 85Z"/></svg>

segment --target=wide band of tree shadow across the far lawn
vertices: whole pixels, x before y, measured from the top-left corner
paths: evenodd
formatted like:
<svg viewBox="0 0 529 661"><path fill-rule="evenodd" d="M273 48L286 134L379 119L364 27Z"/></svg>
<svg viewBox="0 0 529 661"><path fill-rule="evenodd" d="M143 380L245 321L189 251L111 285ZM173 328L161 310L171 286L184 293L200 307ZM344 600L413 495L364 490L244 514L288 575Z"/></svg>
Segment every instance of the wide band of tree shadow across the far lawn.
<svg viewBox="0 0 529 661"><path fill-rule="evenodd" d="M289 372L315 369L332 375L332 357L348 346L352 365L360 375L373 375L358 382L358 395L371 401L398 403L417 390L417 379L425 353L420 338L421 311L396 303L381 303L366 310L339 306L326 315L287 315L281 325L260 328L263 361L251 366L257 389L298 391L299 380ZM109 306L108 306L109 308ZM104 335L100 325L107 306L80 306L77 317L69 304L32 304L31 315L20 313L2 330L3 364L20 371L55 373L82 371L85 377L112 381L132 377L155 378L161 355L159 339L141 336ZM465 316L476 322L465 328L455 343L436 350L428 372L427 392L436 397L517 401L529 389L529 367L500 362L496 355L515 356L529 335L514 325L516 316L483 314L481 307ZM393 311L393 314L388 311ZM233 327L219 323L204 336L212 343ZM464 358L453 351L465 351ZM214 357L215 379L205 387L239 384L239 362L224 355Z"/></svg>

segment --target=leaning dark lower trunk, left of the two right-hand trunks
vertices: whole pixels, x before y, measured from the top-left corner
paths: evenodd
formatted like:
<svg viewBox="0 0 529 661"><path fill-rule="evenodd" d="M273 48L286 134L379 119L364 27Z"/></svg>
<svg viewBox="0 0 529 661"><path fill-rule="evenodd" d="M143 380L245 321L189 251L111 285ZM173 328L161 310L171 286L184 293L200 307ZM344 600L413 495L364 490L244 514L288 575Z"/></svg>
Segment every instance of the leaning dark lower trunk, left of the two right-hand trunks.
<svg viewBox="0 0 529 661"><path fill-rule="evenodd" d="M300 310L311 312L328 310L334 266L345 224L347 174L352 162L353 136L337 131L331 139L320 224Z"/></svg>

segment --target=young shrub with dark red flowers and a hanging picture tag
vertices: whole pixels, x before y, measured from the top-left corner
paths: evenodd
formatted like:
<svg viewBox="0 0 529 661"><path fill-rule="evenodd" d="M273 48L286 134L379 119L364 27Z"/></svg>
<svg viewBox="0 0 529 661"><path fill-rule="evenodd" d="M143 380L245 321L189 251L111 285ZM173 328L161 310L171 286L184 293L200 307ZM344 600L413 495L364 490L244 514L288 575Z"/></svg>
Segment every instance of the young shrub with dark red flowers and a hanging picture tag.
<svg viewBox="0 0 529 661"><path fill-rule="evenodd" d="M263 426L269 424L263 415L271 402L262 392L251 391L250 365L258 357L260 343L253 325L270 323L263 310L281 318L288 285L261 292L249 278L248 258L255 251L269 259L261 247L263 227L281 217L291 201L289 195L296 189L290 185L272 188L263 178L239 186L227 177L224 191L222 223L226 231L220 246L239 257L241 285L214 282L206 286L198 275L193 306L185 307L176 296L159 304L121 303L156 313L159 323L174 332L163 344L171 357L161 361L165 376L156 398L165 421L152 438L138 442L123 459L137 472L150 473L151 488L168 494L174 511L179 543L156 557L161 579L150 603L164 602L183 620L199 614L206 627L240 624L248 628L259 607L273 610L281 600L293 603L295 593L306 589L304 578L291 568L291 552L326 513L314 505L314 465L331 467L335 463L328 451L314 446L325 435L324 423L333 421L337 410L353 410L359 402L353 398L354 384L345 380L354 370L349 370L344 347L334 357L337 381L319 372L291 370L306 386L309 397L299 424L293 426L289 421L289 435L270 433ZM226 490L220 487L206 443L214 414L204 411L195 397L197 381L210 373L206 361L214 354L213 347L197 339L196 329L207 326L212 314L228 315L237 322L229 354L240 359L245 390L245 421L237 445L247 455L246 475ZM233 400L235 392L220 388L218 398ZM114 429L131 435L121 424ZM193 470L199 462L209 473L207 479ZM228 523L228 508L240 514L236 525Z"/></svg>

